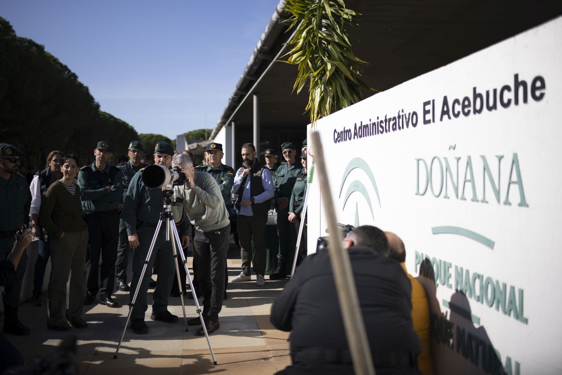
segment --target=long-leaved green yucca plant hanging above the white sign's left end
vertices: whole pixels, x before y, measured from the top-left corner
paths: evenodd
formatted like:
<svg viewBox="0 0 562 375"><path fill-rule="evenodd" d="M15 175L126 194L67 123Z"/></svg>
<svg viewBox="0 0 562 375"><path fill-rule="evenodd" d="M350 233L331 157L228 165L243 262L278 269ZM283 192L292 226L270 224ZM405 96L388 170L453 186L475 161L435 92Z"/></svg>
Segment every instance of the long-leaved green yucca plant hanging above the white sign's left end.
<svg viewBox="0 0 562 375"><path fill-rule="evenodd" d="M293 46L280 60L298 65L293 86L297 94L310 80L310 123L315 125L322 116L360 101L361 88L369 88L359 76L359 65L367 64L353 55L352 36L348 29L357 24L360 14L347 9L343 0L287 0L285 10L292 17L288 30L297 26L294 37L287 42ZM287 30L287 31L288 31Z"/></svg>

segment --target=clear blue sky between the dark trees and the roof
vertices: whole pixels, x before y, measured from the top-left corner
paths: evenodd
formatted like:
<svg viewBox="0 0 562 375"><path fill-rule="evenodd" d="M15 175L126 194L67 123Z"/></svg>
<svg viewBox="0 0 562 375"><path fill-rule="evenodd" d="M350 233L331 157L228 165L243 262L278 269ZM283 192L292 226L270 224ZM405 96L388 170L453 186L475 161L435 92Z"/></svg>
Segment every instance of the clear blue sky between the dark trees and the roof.
<svg viewBox="0 0 562 375"><path fill-rule="evenodd" d="M16 34L138 133L214 128L278 0L2 0Z"/></svg>

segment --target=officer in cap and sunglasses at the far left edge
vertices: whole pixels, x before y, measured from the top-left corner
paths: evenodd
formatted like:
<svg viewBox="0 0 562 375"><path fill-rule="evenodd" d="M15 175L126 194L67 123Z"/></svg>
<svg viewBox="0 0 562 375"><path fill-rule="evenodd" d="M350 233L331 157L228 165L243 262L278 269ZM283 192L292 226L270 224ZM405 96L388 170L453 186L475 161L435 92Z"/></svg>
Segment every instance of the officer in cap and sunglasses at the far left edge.
<svg viewBox="0 0 562 375"><path fill-rule="evenodd" d="M31 192L28 180L17 174L23 152L13 144L0 143L0 261L12 251L16 232L28 222ZM15 274L4 284L4 333L22 336L29 334L17 318L20 306L21 281L24 278L28 256L24 251Z"/></svg>

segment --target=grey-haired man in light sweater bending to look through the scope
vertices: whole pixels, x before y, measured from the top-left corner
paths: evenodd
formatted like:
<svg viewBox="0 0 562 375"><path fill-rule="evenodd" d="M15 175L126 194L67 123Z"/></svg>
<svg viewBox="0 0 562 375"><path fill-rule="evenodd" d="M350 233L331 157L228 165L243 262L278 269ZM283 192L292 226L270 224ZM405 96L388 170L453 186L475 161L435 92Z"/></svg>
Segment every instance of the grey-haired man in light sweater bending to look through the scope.
<svg viewBox="0 0 562 375"><path fill-rule="evenodd" d="M178 155L173 166L182 168L185 174L183 186L174 187L176 198L184 198L185 214L195 227L196 278L203 292L203 318L207 333L219 329L219 313L223 307L224 268L230 238L230 221L219 185L206 172L196 172L188 155ZM188 324L201 324L199 317ZM203 328L197 335L205 335Z"/></svg>

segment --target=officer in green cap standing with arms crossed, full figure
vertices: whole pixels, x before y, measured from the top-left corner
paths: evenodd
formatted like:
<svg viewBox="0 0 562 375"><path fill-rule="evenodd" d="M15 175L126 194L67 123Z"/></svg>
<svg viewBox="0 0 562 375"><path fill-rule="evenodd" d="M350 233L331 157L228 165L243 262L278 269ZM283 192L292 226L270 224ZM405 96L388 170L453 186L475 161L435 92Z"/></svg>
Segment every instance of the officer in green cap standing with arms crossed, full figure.
<svg viewBox="0 0 562 375"><path fill-rule="evenodd" d="M90 305L99 291L99 303L118 308L111 298L115 287L115 261L119 241L119 201L123 198L123 174L107 164L112 146L100 141L94 149L96 161L80 168L78 186L88 225L90 259L86 263L86 296L84 305ZM102 257L101 280L98 279L99 256Z"/></svg>

